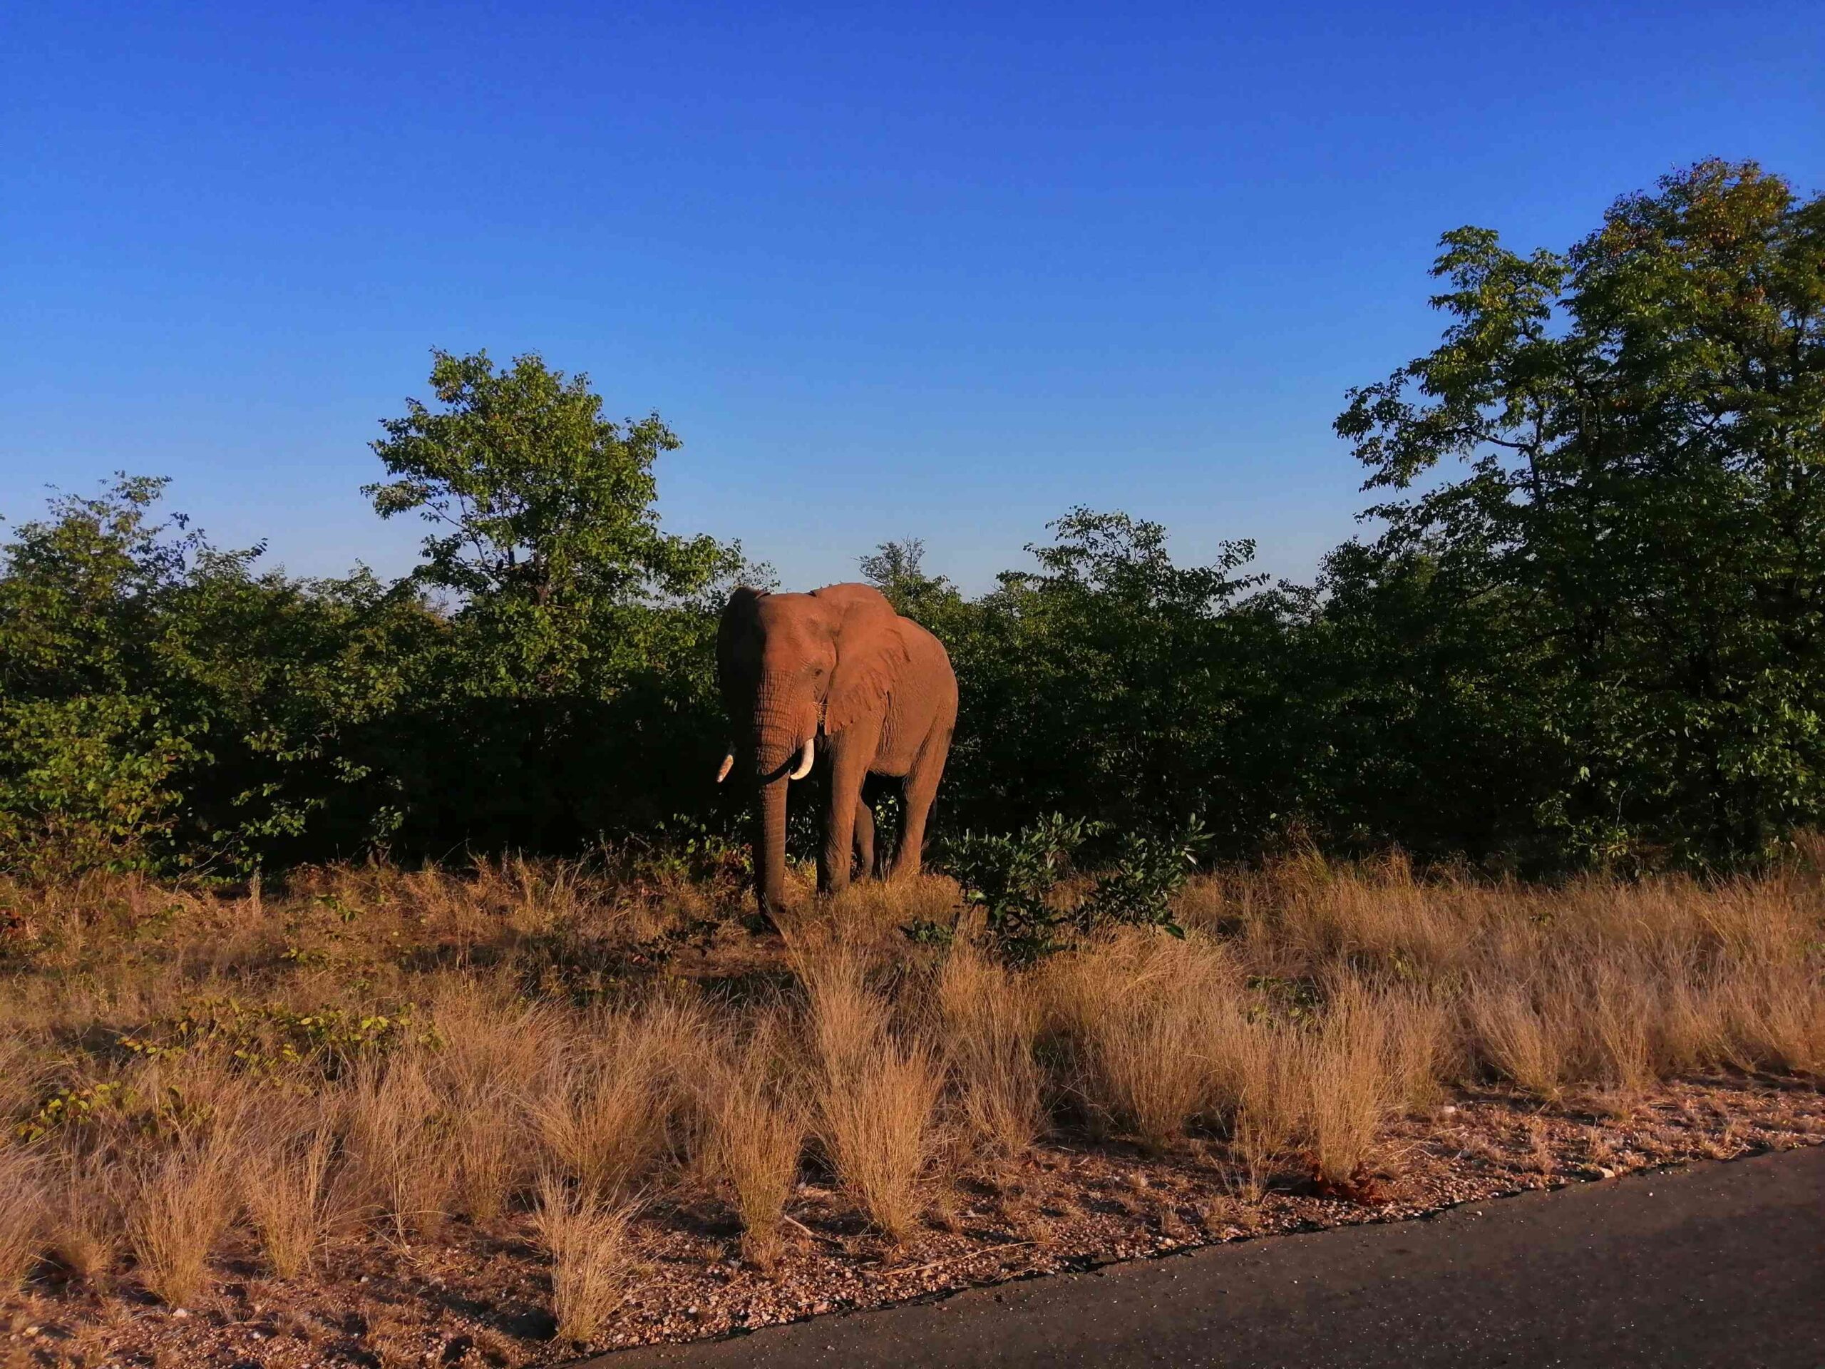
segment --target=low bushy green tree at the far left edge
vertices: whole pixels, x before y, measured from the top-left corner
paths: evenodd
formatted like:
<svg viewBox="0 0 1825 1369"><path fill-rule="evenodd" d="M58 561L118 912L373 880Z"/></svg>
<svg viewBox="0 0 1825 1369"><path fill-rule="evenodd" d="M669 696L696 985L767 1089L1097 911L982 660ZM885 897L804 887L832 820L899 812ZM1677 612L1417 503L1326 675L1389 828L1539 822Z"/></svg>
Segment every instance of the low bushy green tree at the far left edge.
<svg viewBox="0 0 1825 1369"><path fill-rule="evenodd" d="M234 873L330 807L345 849L381 836L347 792L369 772L358 725L433 621L372 577L256 577L259 548L157 522L162 489L57 496L5 548L0 863Z"/></svg>

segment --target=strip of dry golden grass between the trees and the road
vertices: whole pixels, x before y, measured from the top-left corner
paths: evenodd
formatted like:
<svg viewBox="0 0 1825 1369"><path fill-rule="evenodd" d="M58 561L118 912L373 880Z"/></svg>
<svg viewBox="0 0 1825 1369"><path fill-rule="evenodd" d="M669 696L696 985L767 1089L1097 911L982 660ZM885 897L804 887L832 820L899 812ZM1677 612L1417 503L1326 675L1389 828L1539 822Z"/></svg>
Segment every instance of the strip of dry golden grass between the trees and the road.
<svg viewBox="0 0 1825 1369"><path fill-rule="evenodd" d="M1553 1115L1825 1075L1818 862L1544 887L1305 854L1195 882L1184 942L1033 969L907 942L949 922L942 878L807 898L783 951L739 929L745 898L524 860L221 898L0 887L24 922L0 944L0 1287L49 1287L42 1259L188 1303L230 1238L299 1278L345 1232L467 1223L542 1232L560 1334L588 1342L635 1194L719 1208L770 1269L807 1143L902 1241L1048 1134L1208 1148L1257 1197L1349 1185L1391 1119L1464 1086Z"/></svg>

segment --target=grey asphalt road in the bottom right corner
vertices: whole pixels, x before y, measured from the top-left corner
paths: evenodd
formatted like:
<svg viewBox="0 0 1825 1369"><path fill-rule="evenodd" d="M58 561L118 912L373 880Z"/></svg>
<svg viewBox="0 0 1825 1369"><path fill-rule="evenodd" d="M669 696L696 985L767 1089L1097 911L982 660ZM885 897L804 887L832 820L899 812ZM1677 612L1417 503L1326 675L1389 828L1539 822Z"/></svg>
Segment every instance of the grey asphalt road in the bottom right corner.
<svg viewBox="0 0 1825 1369"><path fill-rule="evenodd" d="M1825 1146L591 1364L1820 1369Z"/></svg>

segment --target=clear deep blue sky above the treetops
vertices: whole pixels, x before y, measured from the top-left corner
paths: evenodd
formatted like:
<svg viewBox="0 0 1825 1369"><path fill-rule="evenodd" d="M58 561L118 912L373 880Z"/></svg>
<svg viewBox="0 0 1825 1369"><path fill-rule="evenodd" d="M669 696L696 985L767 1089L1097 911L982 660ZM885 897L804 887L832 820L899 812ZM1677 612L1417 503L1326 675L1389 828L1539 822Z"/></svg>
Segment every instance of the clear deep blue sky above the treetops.
<svg viewBox="0 0 1825 1369"><path fill-rule="evenodd" d="M684 438L677 531L788 586L920 535L969 588L1068 506L1310 573L1343 389L1440 232L1564 246L1703 155L1825 184L1792 4L13 5L0 513L117 467L294 571L433 345Z"/></svg>

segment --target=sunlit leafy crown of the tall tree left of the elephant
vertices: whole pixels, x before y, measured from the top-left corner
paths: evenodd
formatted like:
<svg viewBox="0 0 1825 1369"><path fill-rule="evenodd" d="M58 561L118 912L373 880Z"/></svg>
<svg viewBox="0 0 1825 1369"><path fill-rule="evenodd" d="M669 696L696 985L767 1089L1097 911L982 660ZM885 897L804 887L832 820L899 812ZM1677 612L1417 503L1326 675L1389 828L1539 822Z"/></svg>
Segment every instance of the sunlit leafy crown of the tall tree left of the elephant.
<svg viewBox="0 0 1825 1369"><path fill-rule="evenodd" d="M741 571L739 548L661 531L653 464L681 444L659 414L613 423L588 376L538 356L433 352L440 409L407 400L363 487L381 518L418 513L420 584L451 591L482 648L487 692L597 683L650 652L652 610ZM593 666L593 668L591 668Z"/></svg>

